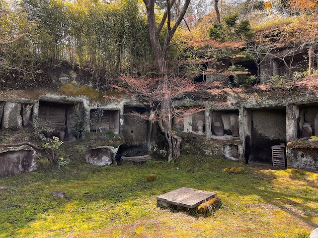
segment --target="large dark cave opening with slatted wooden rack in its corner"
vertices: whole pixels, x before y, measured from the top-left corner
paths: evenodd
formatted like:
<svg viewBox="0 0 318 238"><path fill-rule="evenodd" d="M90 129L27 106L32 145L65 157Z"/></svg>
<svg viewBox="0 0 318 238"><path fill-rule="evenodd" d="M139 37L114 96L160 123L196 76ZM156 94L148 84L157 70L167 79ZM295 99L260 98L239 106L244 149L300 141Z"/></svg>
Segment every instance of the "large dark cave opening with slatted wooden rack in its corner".
<svg viewBox="0 0 318 238"><path fill-rule="evenodd" d="M286 109L260 108L247 110L245 163L272 164L271 147L286 145Z"/></svg>

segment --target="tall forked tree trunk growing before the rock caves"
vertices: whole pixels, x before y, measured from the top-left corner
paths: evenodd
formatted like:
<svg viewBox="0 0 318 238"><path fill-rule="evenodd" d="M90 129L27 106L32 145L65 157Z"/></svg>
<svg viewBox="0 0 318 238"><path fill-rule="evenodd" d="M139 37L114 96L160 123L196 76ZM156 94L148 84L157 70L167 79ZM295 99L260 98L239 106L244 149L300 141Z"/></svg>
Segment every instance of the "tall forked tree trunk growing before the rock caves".
<svg viewBox="0 0 318 238"><path fill-rule="evenodd" d="M149 34L152 49L154 52L154 60L160 75L160 84L162 85L162 101L160 102L159 111L159 127L164 133L169 145L168 162L180 155L181 137L172 132L172 117L171 117L171 94L170 78L168 75L167 56L170 47L171 39L180 25L190 3L190 0L185 0L179 15L174 24L171 21L171 8L175 0L166 0L166 9L162 15L159 24L156 22L155 0L143 0L147 8L147 18L149 25ZM161 43L159 34L166 24L166 33L164 41ZM181 86L182 87L182 86Z"/></svg>

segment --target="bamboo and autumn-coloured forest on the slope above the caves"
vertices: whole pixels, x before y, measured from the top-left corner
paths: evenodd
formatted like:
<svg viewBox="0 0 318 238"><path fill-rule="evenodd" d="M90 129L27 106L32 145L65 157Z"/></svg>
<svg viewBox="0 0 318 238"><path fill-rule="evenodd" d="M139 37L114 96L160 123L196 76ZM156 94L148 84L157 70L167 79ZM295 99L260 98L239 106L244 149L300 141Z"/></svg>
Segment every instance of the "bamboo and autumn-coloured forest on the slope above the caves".
<svg viewBox="0 0 318 238"><path fill-rule="evenodd" d="M159 21L166 5L156 2ZM172 21L181 5L174 1ZM200 60L231 55L227 51L268 29L294 25L306 31L316 16L317 0L192 0L168 63L173 73L196 77ZM215 50L220 47L228 50ZM0 79L8 88L48 85L50 73L73 68L100 90L119 75L151 76L153 59L141 0L0 0Z"/></svg>

